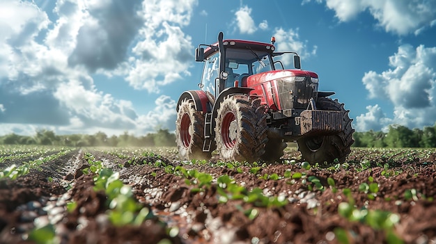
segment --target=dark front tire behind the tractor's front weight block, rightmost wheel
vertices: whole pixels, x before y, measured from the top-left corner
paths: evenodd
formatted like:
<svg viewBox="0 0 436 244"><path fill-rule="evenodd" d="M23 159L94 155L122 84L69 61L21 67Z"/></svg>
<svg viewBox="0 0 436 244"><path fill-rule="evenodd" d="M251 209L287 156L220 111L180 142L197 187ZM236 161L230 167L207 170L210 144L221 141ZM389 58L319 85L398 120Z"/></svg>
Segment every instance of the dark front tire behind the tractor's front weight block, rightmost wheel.
<svg viewBox="0 0 436 244"><path fill-rule="evenodd" d="M321 166L328 166L335 163L343 163L345 157L351 152L351 145L355 142L352 133L355 132L351 127L352 119L348 116L350 111L346 111L343 104L338 100L328 97L318 97L316 108L325 111L343 112L343 131L333 136L311 136L297 140L299 152L302 153L304 160L312 165L319 163Z"/></svg>

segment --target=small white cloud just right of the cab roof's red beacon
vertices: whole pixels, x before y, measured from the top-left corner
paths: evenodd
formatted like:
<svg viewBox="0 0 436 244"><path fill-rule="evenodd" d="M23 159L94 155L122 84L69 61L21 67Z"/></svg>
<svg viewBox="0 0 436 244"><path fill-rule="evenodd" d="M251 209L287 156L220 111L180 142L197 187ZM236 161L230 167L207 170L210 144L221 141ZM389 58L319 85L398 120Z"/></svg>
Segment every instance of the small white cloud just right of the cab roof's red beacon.
<svg viewBox="0 0 436 244"><path fill-rule="evenodd" d="M295 51L302 58L309 58L316 55L317 46L313 46L312 49L307 47L307 40L302 41L299 39L298 29L289 29L285 31L283 28L275 29L274 37L276 38L277 51ZM281 57L284 65L293 65L292 55L283 55Z"/></svg>

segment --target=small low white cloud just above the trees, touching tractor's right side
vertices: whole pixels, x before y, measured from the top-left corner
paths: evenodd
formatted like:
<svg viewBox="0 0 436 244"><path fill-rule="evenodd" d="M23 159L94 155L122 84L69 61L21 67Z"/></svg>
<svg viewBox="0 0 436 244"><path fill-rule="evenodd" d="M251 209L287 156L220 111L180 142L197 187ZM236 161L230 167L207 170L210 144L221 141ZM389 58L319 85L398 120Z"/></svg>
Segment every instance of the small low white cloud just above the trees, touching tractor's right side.
<svg viewBox="0 0 436 244"><path fill-rule="evenodd" d="M391 119L386 117L382 108L375 104L375 106L366 106L368 113L357 116L356 131L385 131L387 126L391 124Z"/></svg>

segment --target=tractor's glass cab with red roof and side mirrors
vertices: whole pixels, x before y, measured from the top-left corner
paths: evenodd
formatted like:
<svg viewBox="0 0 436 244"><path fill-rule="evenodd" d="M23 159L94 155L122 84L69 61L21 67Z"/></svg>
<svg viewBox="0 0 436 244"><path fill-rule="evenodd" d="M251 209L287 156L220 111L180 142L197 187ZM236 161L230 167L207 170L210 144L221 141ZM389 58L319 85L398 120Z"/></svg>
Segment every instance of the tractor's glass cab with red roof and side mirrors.
<svg viewBox="0 0 436 244"><path fill-rule="evenodd" d="M247 87L248 76L276 70L273 57L285 53L274 53L274 42L272 38L272 44L247 40L200 44L196 49L196 61L205 62L200 88L217 97L226 88ZM295 67L299 68L299 56L289 53L295 54ZM275 63L280 63L283 69L280 60Z"/></svg>

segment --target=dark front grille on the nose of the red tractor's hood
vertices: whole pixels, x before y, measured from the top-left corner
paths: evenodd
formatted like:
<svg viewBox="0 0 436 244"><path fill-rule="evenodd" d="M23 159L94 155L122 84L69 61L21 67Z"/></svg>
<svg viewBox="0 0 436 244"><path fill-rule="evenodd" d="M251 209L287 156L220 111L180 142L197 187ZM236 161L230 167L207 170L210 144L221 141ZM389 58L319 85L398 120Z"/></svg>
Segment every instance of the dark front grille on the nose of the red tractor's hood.
<svg viewBox="0 0 436 244"><path fill-rule="evenodd" d="M311 83L309 77L304 81L285 81L277 80L277 90L279 90L279 101L281 110L290 108L304 108L309 105L311 97L316 99L318 83Z"/></svg>

